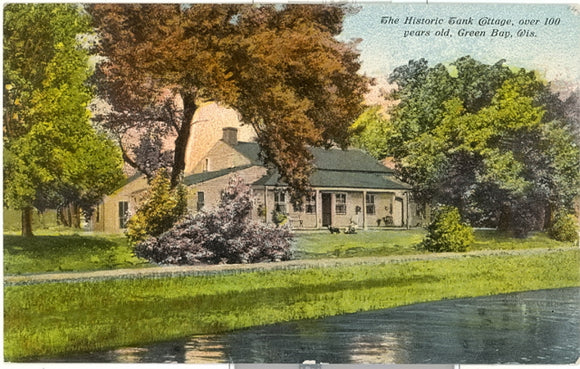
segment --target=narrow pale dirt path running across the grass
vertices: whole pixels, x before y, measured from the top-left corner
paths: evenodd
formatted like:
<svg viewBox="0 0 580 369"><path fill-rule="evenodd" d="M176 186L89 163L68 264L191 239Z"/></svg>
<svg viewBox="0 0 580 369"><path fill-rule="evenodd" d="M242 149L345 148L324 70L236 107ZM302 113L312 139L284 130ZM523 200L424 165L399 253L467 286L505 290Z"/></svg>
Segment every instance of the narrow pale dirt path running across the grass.
<svg viewBox="0 0 580 369"><path fill-rule="evenodd" d="M371 257L345 258L345 259L290 260L276 263L259 263L259 264L161 266L142 269L98 270L91 272L5 275L4 286L54 283L54 282L98 281L98 280L123 279L123 278L207 276L219 274L236 274L252 271L332 268L337 266L352 266L352 265L384 265L419 260L460 259L482 256L539 255L575 249L578 249L578 247L538 248L525 250L482 250L482 251L471 251L466 253L417 254L417 255L397 255L397 256L382 256L382 257L371 256Z"/></svg>

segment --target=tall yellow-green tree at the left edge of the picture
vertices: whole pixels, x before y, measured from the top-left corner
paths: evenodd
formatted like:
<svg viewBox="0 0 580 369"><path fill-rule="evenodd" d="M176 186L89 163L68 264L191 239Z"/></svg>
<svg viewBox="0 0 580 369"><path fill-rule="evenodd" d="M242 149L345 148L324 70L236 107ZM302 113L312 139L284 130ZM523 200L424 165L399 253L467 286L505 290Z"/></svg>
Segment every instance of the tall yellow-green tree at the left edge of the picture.
<svg viewBox="0 0 580 369"><path fill-rule="evenodd" d="M32 235L34 208L72 204L90 213L119 185L122 161L89 120L82 9L9 4L4 14L4 203L23 211L22 233Z"/></svg>

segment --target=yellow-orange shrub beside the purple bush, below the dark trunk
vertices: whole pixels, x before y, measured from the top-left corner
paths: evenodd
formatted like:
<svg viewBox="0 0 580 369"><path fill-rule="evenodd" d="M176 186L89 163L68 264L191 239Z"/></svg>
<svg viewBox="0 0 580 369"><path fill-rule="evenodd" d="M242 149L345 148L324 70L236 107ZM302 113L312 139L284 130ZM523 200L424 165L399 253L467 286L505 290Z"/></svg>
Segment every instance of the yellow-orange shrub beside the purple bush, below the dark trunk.
<svg viewBox="0 0 580 369"><path fill-rule="evenodd" d="M186 189L171 188L167 170L160 169L135 214L127 222L127 237L135 244L171 229L187 213Z"/></svg>

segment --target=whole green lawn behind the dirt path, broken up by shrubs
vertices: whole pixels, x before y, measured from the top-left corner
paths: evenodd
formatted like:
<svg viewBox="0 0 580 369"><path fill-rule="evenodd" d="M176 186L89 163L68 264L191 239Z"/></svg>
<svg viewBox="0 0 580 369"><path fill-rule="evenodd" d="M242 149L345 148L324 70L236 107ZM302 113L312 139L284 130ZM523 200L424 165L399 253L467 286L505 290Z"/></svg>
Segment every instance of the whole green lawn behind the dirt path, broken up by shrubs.
<svg viewBox="0 0 580 369"><path fill-rule="evenodd" d="M91 271L147 267L136 258L123 235L74 234L39 230L32 238L4 235L4 273L30 274L60 271ZM412 255L425 253L416 245L425 231L380 230L358 234L301 232L296 236L297 259L348 258L364 256ZM561 247L544 233L527 239L513 239L495 231L476 231L472 250Z"/></svg>

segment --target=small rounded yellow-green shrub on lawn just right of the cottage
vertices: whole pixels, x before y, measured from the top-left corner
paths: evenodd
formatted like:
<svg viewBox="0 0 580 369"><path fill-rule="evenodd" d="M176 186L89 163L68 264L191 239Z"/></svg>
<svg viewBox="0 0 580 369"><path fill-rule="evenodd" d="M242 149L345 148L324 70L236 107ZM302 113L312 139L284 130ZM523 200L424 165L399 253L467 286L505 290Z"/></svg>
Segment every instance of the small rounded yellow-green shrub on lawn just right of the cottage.
<svg viewBox="0 0 580 369"><path fill-rule="evenodd" d="M473 243L473 228L461 222L456 207L441 206L434 211L421 246L433 252L464 252Z"/></svg>

